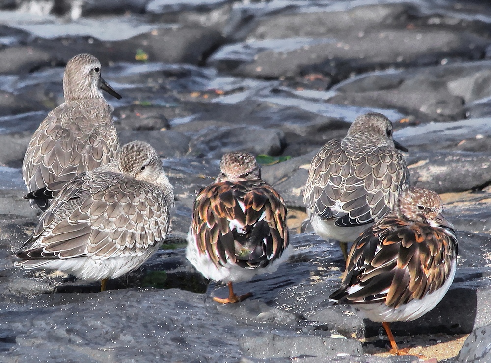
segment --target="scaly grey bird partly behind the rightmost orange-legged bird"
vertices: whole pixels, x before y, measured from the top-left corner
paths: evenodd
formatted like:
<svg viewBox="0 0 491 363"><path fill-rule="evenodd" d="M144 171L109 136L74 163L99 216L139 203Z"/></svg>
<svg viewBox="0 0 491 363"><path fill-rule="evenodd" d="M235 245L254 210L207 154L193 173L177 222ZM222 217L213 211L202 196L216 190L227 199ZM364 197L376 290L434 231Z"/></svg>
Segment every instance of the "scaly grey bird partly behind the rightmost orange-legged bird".
<svg viewBox="0 0 491 363"><path fill-rule="evenodd" d="M380 113L358 116L342 140L330 140L312 159L303 193L315 232L353 242L367 224L387 214L409 186L409 171L392 139L392 123ZM347 245L341 243L347 258Z"/></svg>

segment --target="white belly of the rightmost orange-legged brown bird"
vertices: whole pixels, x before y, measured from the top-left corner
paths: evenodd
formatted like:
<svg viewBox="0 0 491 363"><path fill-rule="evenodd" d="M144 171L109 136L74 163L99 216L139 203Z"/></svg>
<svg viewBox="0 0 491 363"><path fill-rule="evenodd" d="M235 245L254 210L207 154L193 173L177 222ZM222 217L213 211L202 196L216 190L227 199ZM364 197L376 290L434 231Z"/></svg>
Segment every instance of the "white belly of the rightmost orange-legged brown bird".
<svg viewBox="0 0 491 363"><path fill-rule="evenodd" d="M456 261L452 262L450 268L450 275L447 281L438 290L426 295L419 300L411 300L408 304L400 306L399 308L392 308L384 303L377 304L359 304L355 305L360 310L361 314L375 322L393 322L393 321L412 321L423 316L428 311L436 307L436 305L443 299L443 296L447 293L450 285L454 281Z"/></svg>

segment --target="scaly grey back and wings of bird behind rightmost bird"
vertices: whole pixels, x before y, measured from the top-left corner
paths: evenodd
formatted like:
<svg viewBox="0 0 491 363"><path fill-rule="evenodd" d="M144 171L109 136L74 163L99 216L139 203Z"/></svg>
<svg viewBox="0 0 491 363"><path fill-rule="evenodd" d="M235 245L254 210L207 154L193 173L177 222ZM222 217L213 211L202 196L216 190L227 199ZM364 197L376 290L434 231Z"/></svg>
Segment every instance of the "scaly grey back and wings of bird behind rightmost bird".
<svg viewBox="0 0 491 363"><path fill-rule="evenodd" d="M304 192L307 209L338 226L357 226L382 218L409 185L403 156L379 146L353 153L344 140L332 140L314 156ZM348 157L349 156L349 157Z"/></svg>

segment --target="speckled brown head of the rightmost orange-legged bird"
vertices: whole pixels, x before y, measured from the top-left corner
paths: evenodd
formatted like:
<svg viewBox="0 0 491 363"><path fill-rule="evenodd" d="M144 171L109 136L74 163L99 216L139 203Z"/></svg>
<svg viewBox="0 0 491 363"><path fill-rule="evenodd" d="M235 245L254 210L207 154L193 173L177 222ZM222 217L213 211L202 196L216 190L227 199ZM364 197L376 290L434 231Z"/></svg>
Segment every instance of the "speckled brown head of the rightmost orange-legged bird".
<svg viewBox="0 0 491 363"><path fill-rule="evenodd" d="M397 217L422 223L440 221L442 210L440 196L433 190L423 188L409 188L401 192L394 206Z"/></svg>

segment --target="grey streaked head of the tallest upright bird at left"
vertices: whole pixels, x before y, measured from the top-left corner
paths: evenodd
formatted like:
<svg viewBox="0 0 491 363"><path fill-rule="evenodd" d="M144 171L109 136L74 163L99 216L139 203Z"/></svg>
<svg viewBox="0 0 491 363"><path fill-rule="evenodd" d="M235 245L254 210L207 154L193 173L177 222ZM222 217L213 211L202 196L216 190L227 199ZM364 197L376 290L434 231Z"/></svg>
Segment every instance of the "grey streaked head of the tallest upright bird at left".
<svg viewBox="0 0 491 363"><path fill-rule="evenodd" d="M87 98L103 98L99 89L101 62L90 54L79 54L68 61L63 75L65 102Z"/></svg>

